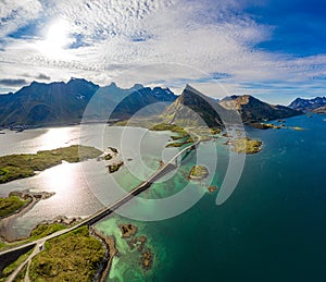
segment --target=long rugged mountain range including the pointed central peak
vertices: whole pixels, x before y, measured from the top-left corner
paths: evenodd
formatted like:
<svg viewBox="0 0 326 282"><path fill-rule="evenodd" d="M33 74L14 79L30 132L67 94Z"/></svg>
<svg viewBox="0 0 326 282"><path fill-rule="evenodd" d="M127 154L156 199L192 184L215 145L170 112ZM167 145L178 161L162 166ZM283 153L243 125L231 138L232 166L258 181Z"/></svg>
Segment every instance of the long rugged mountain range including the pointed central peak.
<svg viewBox="0 0 326 282"><path fill-rule="evenodd" d="M294 107L273 106L252 96L230 96L216 100L187 85L177 96L168 88L143 87L135 84L123 89L112 83L100 87L82 78L67 83L32 83L14 94L0 95L0 126L64 125L84 121L126 120L159 117L179 125L223 126L233 112L243 122L285 119L302 114ZM223 119L222 119L223 118Z"/></svg>

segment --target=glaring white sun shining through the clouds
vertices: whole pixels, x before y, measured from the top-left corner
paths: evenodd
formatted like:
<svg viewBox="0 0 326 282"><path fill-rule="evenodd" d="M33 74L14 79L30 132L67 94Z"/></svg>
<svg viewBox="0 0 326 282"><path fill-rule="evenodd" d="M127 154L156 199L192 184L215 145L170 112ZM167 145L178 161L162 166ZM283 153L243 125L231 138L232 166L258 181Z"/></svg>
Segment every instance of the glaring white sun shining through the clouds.
<svg viewBox="0 0 326 282"><path fill-rule="evenodd" d="M68 42L68 25L65 21L59 20L50 24L45 40L38 44L38 49L47 57L62 58Z"/></svg>

